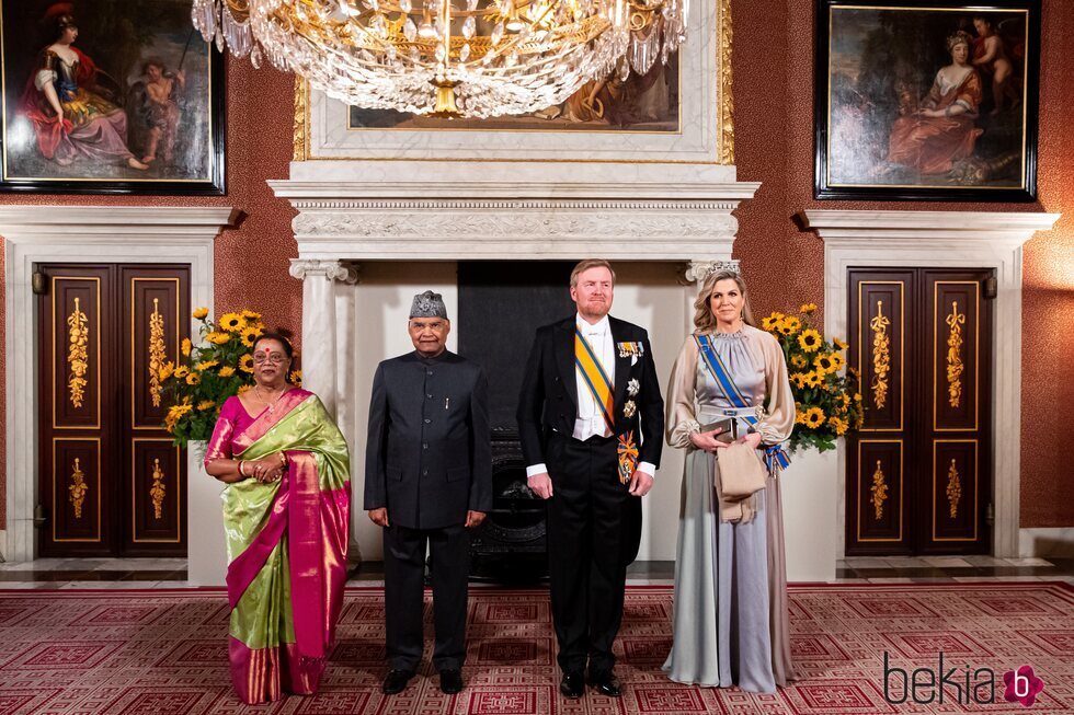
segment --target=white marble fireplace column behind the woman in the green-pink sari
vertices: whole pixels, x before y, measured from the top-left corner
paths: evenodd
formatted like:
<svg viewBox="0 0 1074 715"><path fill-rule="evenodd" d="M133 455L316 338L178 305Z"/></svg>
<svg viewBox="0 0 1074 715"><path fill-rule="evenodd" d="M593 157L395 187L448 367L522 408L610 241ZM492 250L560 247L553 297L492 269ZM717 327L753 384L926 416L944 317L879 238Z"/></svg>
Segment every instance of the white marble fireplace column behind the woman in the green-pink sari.
<svg viewBox="0 0 1074 715"><path fill-rule="evenodd" d="M302 281L302 387L316 393L335 415L341 399L336 285L357 282L357 269L341 261L290 262L290 275Z"/></svg>

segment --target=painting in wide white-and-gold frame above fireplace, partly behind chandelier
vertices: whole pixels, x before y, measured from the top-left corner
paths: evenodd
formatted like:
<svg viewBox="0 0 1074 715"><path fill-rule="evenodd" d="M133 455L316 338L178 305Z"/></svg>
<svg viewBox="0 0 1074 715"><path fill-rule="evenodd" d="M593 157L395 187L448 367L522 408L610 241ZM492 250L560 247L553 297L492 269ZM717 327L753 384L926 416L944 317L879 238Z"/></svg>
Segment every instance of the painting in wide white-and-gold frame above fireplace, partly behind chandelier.
<svg viewBox="0 0 1074 715"><path fill-rule="evenodd" d="M642 76L592 80L530 114L437 118L300 85L296 160L732 164L730 0L689 3L686 42Z"/></svg>

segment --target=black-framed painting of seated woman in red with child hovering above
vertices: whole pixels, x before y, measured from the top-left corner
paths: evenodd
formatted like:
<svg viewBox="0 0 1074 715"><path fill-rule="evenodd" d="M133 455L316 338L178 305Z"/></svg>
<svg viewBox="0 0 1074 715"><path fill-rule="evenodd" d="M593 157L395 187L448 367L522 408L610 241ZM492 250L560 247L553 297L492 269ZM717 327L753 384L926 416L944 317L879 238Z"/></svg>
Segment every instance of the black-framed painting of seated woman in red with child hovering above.
<svg viewBox="0 0 1074 715"><path fill-rule="evenodd" d="M1039 0L820 0L815 196L1037 198Z"/></svg>

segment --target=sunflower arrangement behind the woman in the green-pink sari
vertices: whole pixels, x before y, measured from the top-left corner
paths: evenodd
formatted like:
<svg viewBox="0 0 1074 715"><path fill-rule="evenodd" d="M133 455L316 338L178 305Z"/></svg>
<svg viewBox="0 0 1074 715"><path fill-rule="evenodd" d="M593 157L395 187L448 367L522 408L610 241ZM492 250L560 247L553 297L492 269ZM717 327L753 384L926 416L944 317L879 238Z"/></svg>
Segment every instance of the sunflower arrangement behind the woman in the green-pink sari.
<svg viewBox="0 0 1074 715"><path fill-rule="evenodd" d="M261 313L225 313L216 323L208 314L208 308L194 311L199 344L183 338L179 359L158 376L168 404L164 429L179 447L212 437L224 401L253 387L253 344L265 332Z"/></svg>

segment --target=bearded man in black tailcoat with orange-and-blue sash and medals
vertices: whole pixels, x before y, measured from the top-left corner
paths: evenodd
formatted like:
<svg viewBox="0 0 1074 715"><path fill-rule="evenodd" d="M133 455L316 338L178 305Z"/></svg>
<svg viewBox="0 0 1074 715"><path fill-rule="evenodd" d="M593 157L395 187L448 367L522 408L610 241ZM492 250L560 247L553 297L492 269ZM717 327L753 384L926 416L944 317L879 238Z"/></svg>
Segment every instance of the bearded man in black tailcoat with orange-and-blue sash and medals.
<svg viewBox="0 0 1074 715"><path fill-rule="evenodd" d="M589 682L619 695L612 644L626 568L638 553L641 498L663 446L664 402L649 335L610 318L615 273L587 260L571 274L578 314L537 331L518 399L529 488L548 500L552 620L560 691Z"/></svg>

